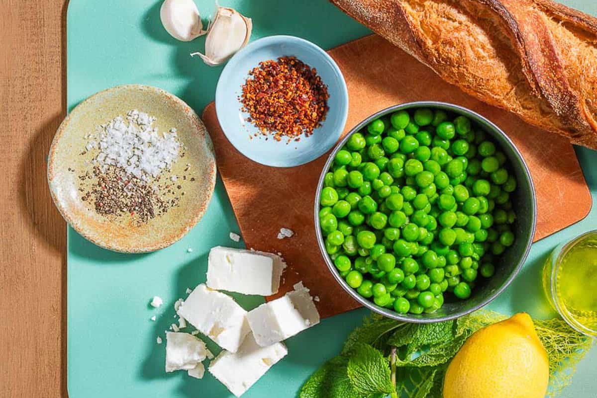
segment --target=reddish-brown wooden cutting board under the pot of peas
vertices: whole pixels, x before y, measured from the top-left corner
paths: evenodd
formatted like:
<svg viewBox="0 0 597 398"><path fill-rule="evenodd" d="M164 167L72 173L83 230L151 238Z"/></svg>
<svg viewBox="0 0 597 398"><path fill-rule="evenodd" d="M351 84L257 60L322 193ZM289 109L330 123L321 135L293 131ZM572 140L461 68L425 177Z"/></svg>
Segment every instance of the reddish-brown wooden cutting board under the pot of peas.
<svg viewBox="0 0 597 398"><path fill-rule="evenodd" d="M340 66L348 86L350 107L344 133L370 114L402 102L435 100L463 105L496 123L527 161L537 192L535 241L589 213L589 188L574 148L566 139L464 94L379 36L367 36L328 53ZM263 166L232 147L217 121L213 102L202 117L216 147L217 166L245 244L256 250L281 252L288 263L275 297L303 281L313 296L319 297L317 305L324 318L358 307L328 271L315 238L313 201L327 154L298 167ZM282 227L292 229L295 235L278 240Z"/></svg>

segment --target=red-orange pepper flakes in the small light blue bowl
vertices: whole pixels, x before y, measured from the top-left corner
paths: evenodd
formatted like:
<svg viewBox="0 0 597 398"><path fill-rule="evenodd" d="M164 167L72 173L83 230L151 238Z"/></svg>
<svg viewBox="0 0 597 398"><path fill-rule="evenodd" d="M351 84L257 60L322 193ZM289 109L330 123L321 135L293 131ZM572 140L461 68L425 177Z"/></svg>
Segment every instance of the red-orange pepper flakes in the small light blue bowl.
<svg viewBox="0 0 597 398"><path fill-rule="evenodd" d="M325 120L330 94L315 68L296 57L280 57L259 63L249 74L253 78L242 86L242 111L263 135L298 141Z"/></svg>

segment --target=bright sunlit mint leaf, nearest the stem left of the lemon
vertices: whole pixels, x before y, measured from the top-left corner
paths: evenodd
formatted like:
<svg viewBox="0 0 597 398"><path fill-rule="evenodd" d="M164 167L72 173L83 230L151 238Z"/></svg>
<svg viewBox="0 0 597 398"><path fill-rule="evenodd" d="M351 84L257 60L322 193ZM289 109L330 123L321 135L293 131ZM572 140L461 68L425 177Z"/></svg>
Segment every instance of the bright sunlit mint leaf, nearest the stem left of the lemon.
<svg viewBox="0 0 597 398"><path fill-rule="evenodd" d="M386 357L369 344L356 343L347 368L350 384L362 396L394 391Z"/></svg>

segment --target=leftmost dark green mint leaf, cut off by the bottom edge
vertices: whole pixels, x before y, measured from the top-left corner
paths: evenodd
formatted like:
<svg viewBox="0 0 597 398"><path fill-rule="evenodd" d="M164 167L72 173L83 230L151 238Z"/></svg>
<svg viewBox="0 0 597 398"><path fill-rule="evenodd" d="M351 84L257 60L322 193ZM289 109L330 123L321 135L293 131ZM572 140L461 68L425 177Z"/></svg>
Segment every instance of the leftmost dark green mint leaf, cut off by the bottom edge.
<svg viewBox="0 0 597 398"><path fill-rule="evenodd" d="M348 358L334 357L317 369L303 385L299 398L361 398L350 384Z"/></svg>

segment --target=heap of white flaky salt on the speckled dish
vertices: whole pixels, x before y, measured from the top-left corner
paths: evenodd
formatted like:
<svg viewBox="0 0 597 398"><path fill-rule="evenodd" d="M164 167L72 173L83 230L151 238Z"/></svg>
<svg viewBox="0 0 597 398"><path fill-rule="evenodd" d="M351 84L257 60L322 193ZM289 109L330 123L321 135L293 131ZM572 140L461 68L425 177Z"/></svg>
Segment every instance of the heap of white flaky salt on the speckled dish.
<svg viewBox="0 0 597 398"><path fill-rule="evenodd" d="M176 129L158 133L155 117L132 110L126 119L117 116L97 128L97 143L91 139L87 149L99 149L94 163L100 167L121 167L128 174L147 181L162 170L170 169L179 157L180 142Z"/></svg>

